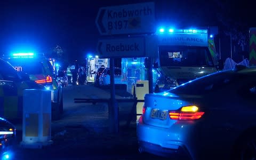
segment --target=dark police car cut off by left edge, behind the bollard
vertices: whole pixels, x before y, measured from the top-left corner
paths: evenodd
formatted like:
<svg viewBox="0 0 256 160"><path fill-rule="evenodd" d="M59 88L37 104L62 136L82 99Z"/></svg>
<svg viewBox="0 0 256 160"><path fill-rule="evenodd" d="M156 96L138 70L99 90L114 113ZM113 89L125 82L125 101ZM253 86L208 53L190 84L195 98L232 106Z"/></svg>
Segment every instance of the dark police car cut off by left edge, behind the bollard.
<svg viewBox="0 0 256 160"><path fill-rule="evenodd" d="M10 63L0 59L0 116L6 119L22 118L22 94L25 89L42 89L43 86L28 81L18 74Z"/></svg>

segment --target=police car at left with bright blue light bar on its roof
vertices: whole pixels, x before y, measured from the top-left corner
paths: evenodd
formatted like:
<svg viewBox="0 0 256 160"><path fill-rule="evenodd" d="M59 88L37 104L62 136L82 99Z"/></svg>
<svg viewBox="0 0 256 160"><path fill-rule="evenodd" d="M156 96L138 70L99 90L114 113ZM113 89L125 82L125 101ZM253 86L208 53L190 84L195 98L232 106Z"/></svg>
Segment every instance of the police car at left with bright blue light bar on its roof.
<svg viewBox="0 0 256 160"><path fill-rule="evenodd" d="M60 119L63 111L62 85L46 57L34 53L13 53L5 59L18 71L29 75L31 81L51 90L52 119Z"/></svg>

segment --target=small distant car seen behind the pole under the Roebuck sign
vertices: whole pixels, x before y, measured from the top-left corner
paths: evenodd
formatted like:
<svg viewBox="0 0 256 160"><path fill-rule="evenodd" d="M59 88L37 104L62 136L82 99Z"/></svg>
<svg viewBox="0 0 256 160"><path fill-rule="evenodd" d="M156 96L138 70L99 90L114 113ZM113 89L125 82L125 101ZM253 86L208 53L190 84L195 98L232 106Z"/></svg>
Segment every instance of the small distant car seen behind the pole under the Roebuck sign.
<svg viewBox="0 0 256 160"><path fill-rule="evenodd" d="M121 68L114 69L114 77L115 77L115 84L124 84L122 81L122 71ZM99 77L100 85L109 85L110 84L110 68L105 68L102 71L102 74Z"/></svg>

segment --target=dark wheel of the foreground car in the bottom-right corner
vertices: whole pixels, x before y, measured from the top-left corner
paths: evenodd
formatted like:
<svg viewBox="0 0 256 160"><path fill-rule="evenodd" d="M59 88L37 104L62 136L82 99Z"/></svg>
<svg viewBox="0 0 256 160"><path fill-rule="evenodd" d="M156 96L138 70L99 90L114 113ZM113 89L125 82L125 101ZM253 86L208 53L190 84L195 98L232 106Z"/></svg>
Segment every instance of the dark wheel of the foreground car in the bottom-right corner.
<svg viewBox="0 0 256 160"><path fill-rule="evenodd" d="M249 134L237 142L231 155L235 160L256 159L256 135Z"/></svg>

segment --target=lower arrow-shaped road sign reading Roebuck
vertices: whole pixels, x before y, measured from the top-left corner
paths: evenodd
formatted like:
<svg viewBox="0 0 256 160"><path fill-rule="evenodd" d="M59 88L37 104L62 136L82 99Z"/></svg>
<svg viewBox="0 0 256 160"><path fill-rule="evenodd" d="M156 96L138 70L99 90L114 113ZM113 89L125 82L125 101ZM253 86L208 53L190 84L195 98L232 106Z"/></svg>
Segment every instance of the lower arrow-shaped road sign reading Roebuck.
<svg viewBox="0 0 256 160"><path fill-rule="evenodd" d="M98 42L100 58L148 57L157 53L155 36L102 39Z"/></svg>

